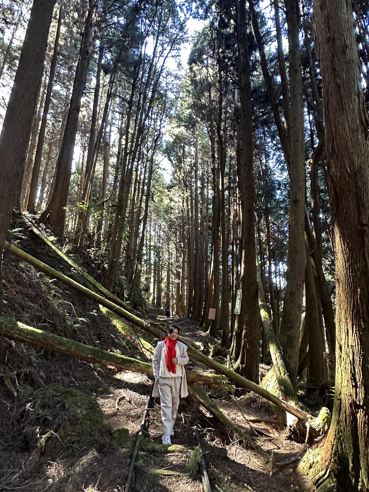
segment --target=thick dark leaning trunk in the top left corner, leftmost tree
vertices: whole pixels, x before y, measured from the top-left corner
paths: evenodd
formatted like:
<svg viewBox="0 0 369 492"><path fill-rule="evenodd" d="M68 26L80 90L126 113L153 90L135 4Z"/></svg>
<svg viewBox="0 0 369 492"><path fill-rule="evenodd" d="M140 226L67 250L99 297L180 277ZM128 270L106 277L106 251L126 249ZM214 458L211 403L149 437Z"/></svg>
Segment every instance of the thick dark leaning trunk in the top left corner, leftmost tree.
<svg viewBox="0 0 369 492"><path fill-rule="evenodd" d="M22 52L0 134L0 315L3 311L2 249L15 199L20 196L24 164L36 111L53 16L54 0L34 0Z"/></svg>

